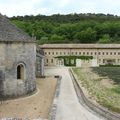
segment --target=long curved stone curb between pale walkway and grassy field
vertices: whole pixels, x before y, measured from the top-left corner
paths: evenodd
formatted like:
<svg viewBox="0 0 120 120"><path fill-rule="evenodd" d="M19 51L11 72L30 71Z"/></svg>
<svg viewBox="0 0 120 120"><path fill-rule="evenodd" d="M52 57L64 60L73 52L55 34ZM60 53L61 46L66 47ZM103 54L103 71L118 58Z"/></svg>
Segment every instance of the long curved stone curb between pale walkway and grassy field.
<svg viewBox="0 0 120 120"><path fill-rule="evenodd" d="M72 76L73 84L76 90L76 94L78 96L79 102L84 106L89 107L94 113L97 113L99 116L104 117L107 120L120 120L120 114L109 111L108 109L97 106L92 101L90 101L84 94L83 90L80 87L77 76L74 75L73 71L69 69L70 75Z"/></svg>

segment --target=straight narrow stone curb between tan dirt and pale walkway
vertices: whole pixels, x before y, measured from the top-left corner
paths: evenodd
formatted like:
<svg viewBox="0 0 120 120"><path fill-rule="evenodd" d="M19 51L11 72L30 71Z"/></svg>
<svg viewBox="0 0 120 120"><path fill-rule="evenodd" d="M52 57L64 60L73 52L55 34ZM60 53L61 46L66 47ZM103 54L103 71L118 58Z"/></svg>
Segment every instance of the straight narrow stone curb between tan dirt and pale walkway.
<svg viewBox="0 0 120 120"><path fill-rule="evenodd" d="M56 86L56 92L55 92L55 97L53 100L53 104L49 113L49 118L48 120L56 120L56 111L57 111L57 104L58 104L58 98L60 94L60 85L61 85L61 76L55 76L57 78L57 86Z"/></svg>

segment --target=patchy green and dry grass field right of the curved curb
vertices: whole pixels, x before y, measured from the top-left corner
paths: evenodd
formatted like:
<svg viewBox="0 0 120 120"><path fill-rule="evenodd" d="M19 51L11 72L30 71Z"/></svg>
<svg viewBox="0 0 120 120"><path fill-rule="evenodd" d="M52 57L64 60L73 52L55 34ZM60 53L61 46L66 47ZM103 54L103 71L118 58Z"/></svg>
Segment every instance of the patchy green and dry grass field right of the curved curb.
<svg viewBox="0 0 120 120"><path fill-rule="evenodd" d="M120 113L120 67L73 68L73 71L92 98Z"/></svg>

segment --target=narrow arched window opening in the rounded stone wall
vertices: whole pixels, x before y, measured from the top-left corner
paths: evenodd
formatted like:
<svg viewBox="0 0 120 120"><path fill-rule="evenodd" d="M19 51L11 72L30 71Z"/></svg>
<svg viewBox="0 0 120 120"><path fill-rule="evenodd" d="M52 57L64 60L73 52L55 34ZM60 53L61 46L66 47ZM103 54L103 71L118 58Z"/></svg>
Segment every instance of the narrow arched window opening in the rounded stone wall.
<svg viewBox="0 0 120 120"><path fill-rule="evenodd" d="M19 64L17 66L17 79L21 80L25 79L25 67L23 64Z"/></svg>

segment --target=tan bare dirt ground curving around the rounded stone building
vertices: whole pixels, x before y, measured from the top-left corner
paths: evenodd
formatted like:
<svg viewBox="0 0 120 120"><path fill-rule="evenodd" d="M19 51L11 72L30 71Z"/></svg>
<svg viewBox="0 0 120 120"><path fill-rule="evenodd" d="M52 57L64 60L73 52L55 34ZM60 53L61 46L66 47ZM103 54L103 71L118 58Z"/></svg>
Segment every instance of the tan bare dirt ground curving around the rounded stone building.
<svg viewBox="0 0 120 120"><path fill-rule="evenodd" d="M37 79L38 91L34 95L0 104L0 119L5 117L47 118L54 97L56 79Z"/></svg>

